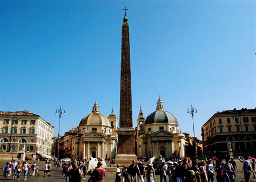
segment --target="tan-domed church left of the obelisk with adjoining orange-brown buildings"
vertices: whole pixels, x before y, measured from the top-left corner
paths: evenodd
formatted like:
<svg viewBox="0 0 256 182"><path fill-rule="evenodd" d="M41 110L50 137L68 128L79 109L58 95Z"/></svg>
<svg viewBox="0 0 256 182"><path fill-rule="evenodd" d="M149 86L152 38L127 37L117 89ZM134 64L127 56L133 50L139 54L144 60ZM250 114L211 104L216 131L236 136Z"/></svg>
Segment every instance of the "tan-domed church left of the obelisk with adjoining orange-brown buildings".
<svg viewBox="0 0 256 182"><path fill-rule="evenodd" d="M92 112L82 118L78 127L60 138L59 156L76 159L114 158L117 155L117 116L99 113L95 103Z"/></svg>

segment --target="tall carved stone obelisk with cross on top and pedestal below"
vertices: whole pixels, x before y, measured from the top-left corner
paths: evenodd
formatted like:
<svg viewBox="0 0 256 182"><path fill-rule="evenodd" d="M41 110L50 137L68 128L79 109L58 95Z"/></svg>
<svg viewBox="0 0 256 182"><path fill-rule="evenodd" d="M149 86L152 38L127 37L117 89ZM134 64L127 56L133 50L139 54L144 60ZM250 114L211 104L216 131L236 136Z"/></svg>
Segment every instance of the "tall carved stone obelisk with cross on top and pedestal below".
<svg viewBox="0 0 256 182"><path fill-rule="evenodd" d="M124 9L122 25L122 53L121 53L121 84L120 84L120 117L116 162L131 164L137 159L134 155L134 128L132 127L132 88L131 88L131 62L129 25Z"/></svg>

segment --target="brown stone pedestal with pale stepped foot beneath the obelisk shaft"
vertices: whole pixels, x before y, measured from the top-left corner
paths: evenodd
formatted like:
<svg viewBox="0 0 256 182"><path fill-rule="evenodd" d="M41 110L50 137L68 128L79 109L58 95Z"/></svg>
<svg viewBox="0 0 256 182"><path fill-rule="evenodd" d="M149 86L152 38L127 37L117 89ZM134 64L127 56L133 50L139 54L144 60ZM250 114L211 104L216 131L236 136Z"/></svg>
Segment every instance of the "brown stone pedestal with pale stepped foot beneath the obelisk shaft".
<svg viewBox="0 0 256 182"><path fill-rule="evenodd" d="M132 160L137 160L137 156L134 154L134 129L119 128L117 134L118 144L115 163L122 166L130 165Z"/></svg>

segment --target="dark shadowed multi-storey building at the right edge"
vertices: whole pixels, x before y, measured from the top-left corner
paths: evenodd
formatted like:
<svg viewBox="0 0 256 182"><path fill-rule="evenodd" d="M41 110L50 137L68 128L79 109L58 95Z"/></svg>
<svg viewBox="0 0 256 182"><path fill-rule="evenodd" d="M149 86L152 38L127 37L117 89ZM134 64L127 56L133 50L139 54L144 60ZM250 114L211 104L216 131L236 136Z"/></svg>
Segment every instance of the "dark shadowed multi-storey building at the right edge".
<svg viewBox="0 0 256 182"><path fill-rule="evenodd" d="M224 110L215 113L202 127L203 151L233 155L256 153L256 108Z"/></svg>

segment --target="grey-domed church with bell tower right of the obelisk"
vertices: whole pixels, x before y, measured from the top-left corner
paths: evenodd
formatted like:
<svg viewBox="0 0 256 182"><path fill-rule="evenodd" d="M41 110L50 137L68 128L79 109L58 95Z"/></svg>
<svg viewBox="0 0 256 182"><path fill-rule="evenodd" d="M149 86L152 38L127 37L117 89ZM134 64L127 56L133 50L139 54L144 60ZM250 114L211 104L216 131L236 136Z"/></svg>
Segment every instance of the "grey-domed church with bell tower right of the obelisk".
<svg viewBox="0 0 256 182"><path fill-rule="evenodd" d="M140 107L136 127L136 153L138 157L166 158L185 156L185 135L178 129L177 118L164 109L159 98L156 111L144 117Z"/></svg>

